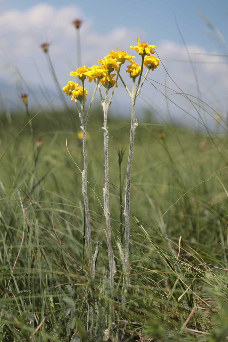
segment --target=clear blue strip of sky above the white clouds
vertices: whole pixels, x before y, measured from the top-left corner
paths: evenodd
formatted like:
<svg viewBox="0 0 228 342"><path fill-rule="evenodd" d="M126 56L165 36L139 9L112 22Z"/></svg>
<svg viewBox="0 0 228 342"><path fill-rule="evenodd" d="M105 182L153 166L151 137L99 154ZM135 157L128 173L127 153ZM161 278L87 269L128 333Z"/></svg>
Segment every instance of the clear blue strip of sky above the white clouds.
<svg viewBox="0 0 228 342"><path fill-rule="evenodd" d="M210 19L225 39L228 37L228 1L218 0L100 0L100 1L71 1L60 0L34 1L34 0L1 0L0 9L9 11L18 9L26 11L38 3L47 3L56 8L64 8L72 4L80 9L83 19L93 19L94 29L102 33L117 27L143 30L145 39L163 39L181 42L174 20L174 13L178 26L186 43L197 43L203 47L212 44L205 35L205 24L199 12ZM227 41L227 39L226 39Z"/></svg>

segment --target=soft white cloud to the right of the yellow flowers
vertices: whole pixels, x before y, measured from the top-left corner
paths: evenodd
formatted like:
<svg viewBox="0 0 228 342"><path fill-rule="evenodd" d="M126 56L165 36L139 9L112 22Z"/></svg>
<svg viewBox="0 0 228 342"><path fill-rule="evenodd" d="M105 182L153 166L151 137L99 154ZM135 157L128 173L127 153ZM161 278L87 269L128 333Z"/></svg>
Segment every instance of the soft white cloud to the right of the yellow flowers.
<svg viewBox="0 0 228 342"><path fill-rule="evenodd" d="M226 60L222 56L210 55L211 52L200 46L194 44L188 46L191 61L183 45L164 41L157 50L167 71L177 84L184 89L188 87L194 95L197 93L197 82L203 93L205 88L210 84L218 83L218 80L221 85L228 81ZM218 93L213 87L211 91Z"/></svg>

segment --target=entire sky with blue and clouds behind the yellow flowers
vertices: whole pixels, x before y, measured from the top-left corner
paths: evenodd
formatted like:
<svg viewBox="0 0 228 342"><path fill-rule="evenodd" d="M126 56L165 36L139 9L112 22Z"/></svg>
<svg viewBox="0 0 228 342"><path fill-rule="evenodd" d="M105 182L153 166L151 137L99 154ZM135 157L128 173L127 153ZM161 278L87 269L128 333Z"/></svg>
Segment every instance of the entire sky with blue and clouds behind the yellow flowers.
<svg viewBox="0 0 228 342"><path fill-rule="evenodd" d="M28 91L17 70L35 92L39 92L38 87L44 82L50 89L51 96L54 98L56 95L45 56L39 47L47 39L52 43L50 53L59 83L61 87L66 85L70 80L69 72L77 67L75 28L71 22L81 18L82 64L96 64L97 59L102 58L110 50L115 50L117 45L130 53L132 50L129 46L137 44L136 38L139 37L140 42L146 41L157 45L156 51L166 70L175 82L184 88L184 92L199 95L196 91L197 75L203 100L209 101L215 110L226 116L227 58L205 54L227 54L225 45L221 47L219 39L215 39L213 35L222 34L220 42L223 39L228 42L228 1L219 0L215 5L212 0L141 0L139 5L139 1L135 0L0 0L0 13L0 90L6 105L9 103L7 99L10 98L20 106L18 94L20 91ZM210 30L201 14L207 17L218 31ZM191 54L192 60L196 62L195 73L189 63L175 17L189 52L197 53ZM42 81L39 73L42 75ZM171 88L174 87L161 63L150 77L162 84L166 82ZM129 78L127 81L131 86ZM9 87L14 89L10 96ZM160 90L164 93L164 87ZM150 84L144 86L143 91L144 107L149 101L152 107L165 115L166 108L163 104L162 108L160 107L164 96L157 93ZM126 101L121 91L118 96L115 101L120 110ZM41 93L38 97L43 105ZM175 96L175 101L180 101L181 105L191 110L181 98L177 99ZM172 110L177 112L173 105ZM183 114L183 120L185 118L186 115Z"/></svg>

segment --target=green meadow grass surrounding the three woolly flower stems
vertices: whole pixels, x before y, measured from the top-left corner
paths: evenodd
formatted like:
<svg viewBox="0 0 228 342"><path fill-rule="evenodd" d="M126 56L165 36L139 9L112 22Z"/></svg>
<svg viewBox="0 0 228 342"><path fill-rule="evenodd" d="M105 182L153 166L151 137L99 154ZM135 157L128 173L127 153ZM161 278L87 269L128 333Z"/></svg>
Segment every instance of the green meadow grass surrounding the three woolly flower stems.
<svg viewBox="0 0 228 342"><path fill-rule="evenodd" d="M0 156L26 120L17 115L9 125L2 116ZM80 129L65 113L40 113L32 121L35 145L40 139L36 158L27 126L1 159L0 341L88 340L90 301L96 313L95 341L108 339L110 301L115 308L113 336L123 331L125 341L225 341L227 136L217 135L213 142L208 134L186 128L138 123L131 171L131 290L123 313L116 242L124 244L117 150L128 150L130 122L110 120L114 296L108 293L106 273L102 114L94 110L87 129L93 253L100 244L91 299ZM125 153L123 197L127 158Z"/></svg>

